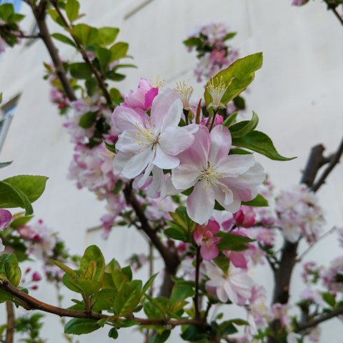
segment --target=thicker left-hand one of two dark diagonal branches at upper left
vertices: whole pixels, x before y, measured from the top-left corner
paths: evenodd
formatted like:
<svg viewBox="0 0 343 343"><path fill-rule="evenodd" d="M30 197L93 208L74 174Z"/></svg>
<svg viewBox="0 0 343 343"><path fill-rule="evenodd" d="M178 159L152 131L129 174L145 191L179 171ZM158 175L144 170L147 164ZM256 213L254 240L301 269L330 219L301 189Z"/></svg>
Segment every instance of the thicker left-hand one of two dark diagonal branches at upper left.
<svg viewBox="0 0 343 343"><path fill-rule="evenodd" d="M39 6L32 4L31 1L27 2L27 4L31 6L32 12L39 27L39 37L44 41L46 49L49 51L49 55L51 56L51 60L56 69L57 77L59 78L59 81L61 81L61 85L66 93L66 96L68 96L70 101L75 101L76 96L74 89L72 89L71 84L66 77L66 70L64 69L63 63L59 58L59 52L57 51L56 46L51 39L48 26L46 25L46 1L41 1Z"/></svg>

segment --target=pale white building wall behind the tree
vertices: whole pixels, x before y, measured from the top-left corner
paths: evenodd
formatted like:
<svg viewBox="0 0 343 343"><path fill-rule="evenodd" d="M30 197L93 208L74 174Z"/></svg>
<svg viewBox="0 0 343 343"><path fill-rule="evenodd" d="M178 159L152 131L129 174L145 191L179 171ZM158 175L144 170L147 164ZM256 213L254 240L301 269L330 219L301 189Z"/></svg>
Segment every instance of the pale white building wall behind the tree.
<svg viewBox="0 0 343 343"><path fill-rule="evenodd" d="M23 5L23 10L27 11ZM224 21L238 31L232 41L241 55L264 52L264 66L257 72L246 95L249 109L260 116L259 128L274 139L286 156L298 156L289 162L269 161L259 157L278 187L297 184L309 149L319 142L332 151L343 131L343 30L333 14L325 11L319 0L295 8L288 0L81 0L86 22L98 26L119 26L121 39L130 44L138 69L129 69L127 79L119 86L123 91L134 88L140 76L161 76L173 85L179 79L190 79L195 57L188 54L182 40L194 26ZM27 29L32 19L26 19ZM51 23L52 31L56 25ZM59 45L59 44L58 44ZM61 56L74 57L61 46ZM0 59L0 90L4 98L21 92L16 115L0 154L1 161L14 160L1 169L1 178L13 174L43 174L49 182L43 197L34 204L37 217L54 229L70 247L81 252L88 244L99 244L107 259L120 262L132 252L144 252L145 240L134 229L115 229L108 241L86 229L99 224L103 204L89 192L78 191L66 179L72 154L69 137L61 128L62 120L49 103L49 87L42 80L42 62L49 61L45 47L36 42L9 50ZM337 166L327 185L319 192L327 212L327 229L343 222L343 167ZM342 252L342 251L341 251ZM329 262L339 248L334 236L314 248L307 259ZM146 277L146 271L139 273ZM270 284L267 269L255 274L258 281ZM292 279L294 299L301 288L299 270ZM52 287L42 287L36 297L54 302ZM68 304L66 302L66 304ZM141 342L139 334L119 332L118 342ZM62 342L56 318L46 316L44 336L50 342ZM339 343L343 328L337 319L325 324L322 342ZM56 339L56 337L59 337ZM111 342L100 330L80 342ZM177 336L174 342L179 342Z"/></svg>

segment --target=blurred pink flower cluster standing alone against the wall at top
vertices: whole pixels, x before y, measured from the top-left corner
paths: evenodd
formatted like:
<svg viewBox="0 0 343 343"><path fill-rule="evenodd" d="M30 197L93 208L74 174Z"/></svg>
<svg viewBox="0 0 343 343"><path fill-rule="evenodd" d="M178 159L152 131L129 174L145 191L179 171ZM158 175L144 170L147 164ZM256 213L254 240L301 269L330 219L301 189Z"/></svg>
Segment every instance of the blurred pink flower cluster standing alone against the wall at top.
<svg viewBox="0 0 343 343"><path fill-rule="evenodd" d="M212 23L202 26L184 41L189 51L197 51L199 62L194 70L197 81L210 79L238 59L238 50L227 45L227 40L234 35L225 24Z"/></svg>

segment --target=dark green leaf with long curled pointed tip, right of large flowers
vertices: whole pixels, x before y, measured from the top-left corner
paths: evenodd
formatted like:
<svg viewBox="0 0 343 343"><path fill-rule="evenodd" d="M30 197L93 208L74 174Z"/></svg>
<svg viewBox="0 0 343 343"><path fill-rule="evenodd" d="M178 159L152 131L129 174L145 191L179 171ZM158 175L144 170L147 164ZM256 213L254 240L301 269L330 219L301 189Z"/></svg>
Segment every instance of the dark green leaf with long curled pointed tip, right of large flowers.
<svg viewBox="0 0 343 343"><path fill-rule="evenodd" d="M259 154L267 156L269 159L275 161L289 161L296 157L284 157L275 149L272 139L260 131L252 131L244 137L232 139L232 145L242 146L252 151L256 151Z"/></svg>

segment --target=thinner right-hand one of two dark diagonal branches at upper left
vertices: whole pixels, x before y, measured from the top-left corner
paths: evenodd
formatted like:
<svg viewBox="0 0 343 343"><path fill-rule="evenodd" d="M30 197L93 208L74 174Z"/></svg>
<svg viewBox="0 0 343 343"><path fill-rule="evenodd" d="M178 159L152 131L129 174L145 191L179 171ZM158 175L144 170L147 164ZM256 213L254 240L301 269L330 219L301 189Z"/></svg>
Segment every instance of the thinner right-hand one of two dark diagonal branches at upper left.
<svg viewBox="0 0 343 343"><path fill-rule="evenodd" d="M61 9L59 9L57 1L51 0L51 4L54 6L54 8L56 9L57 13L59 14L59 17L61 18L61 21L63 21L64 25L69 30L69 33L73 37L73 39L75 41L75 44L78 47L78 49L79 49L79 51L80 51L80 53L82 55L82 58L84 59L86 64L89 66L89 69L91 69L91 72L94 74L94 76L96 78L96 81L98 82L98 85L99 85L102 93L104 94L104 97L106 99L107 104L112 105L111 96L109 95L109 92L107 91L106 84L104 83L104 80L101 78L101 74L99 73L99 71L97 71L97 69L91 63L91 60L89 59L89 57L88 57L88 55L86 53L86 50L81 45L79 39L75 36L74 29L72 28L71 24L69 24L69 22L66 20L66 17L61 12Z"/></svg>

